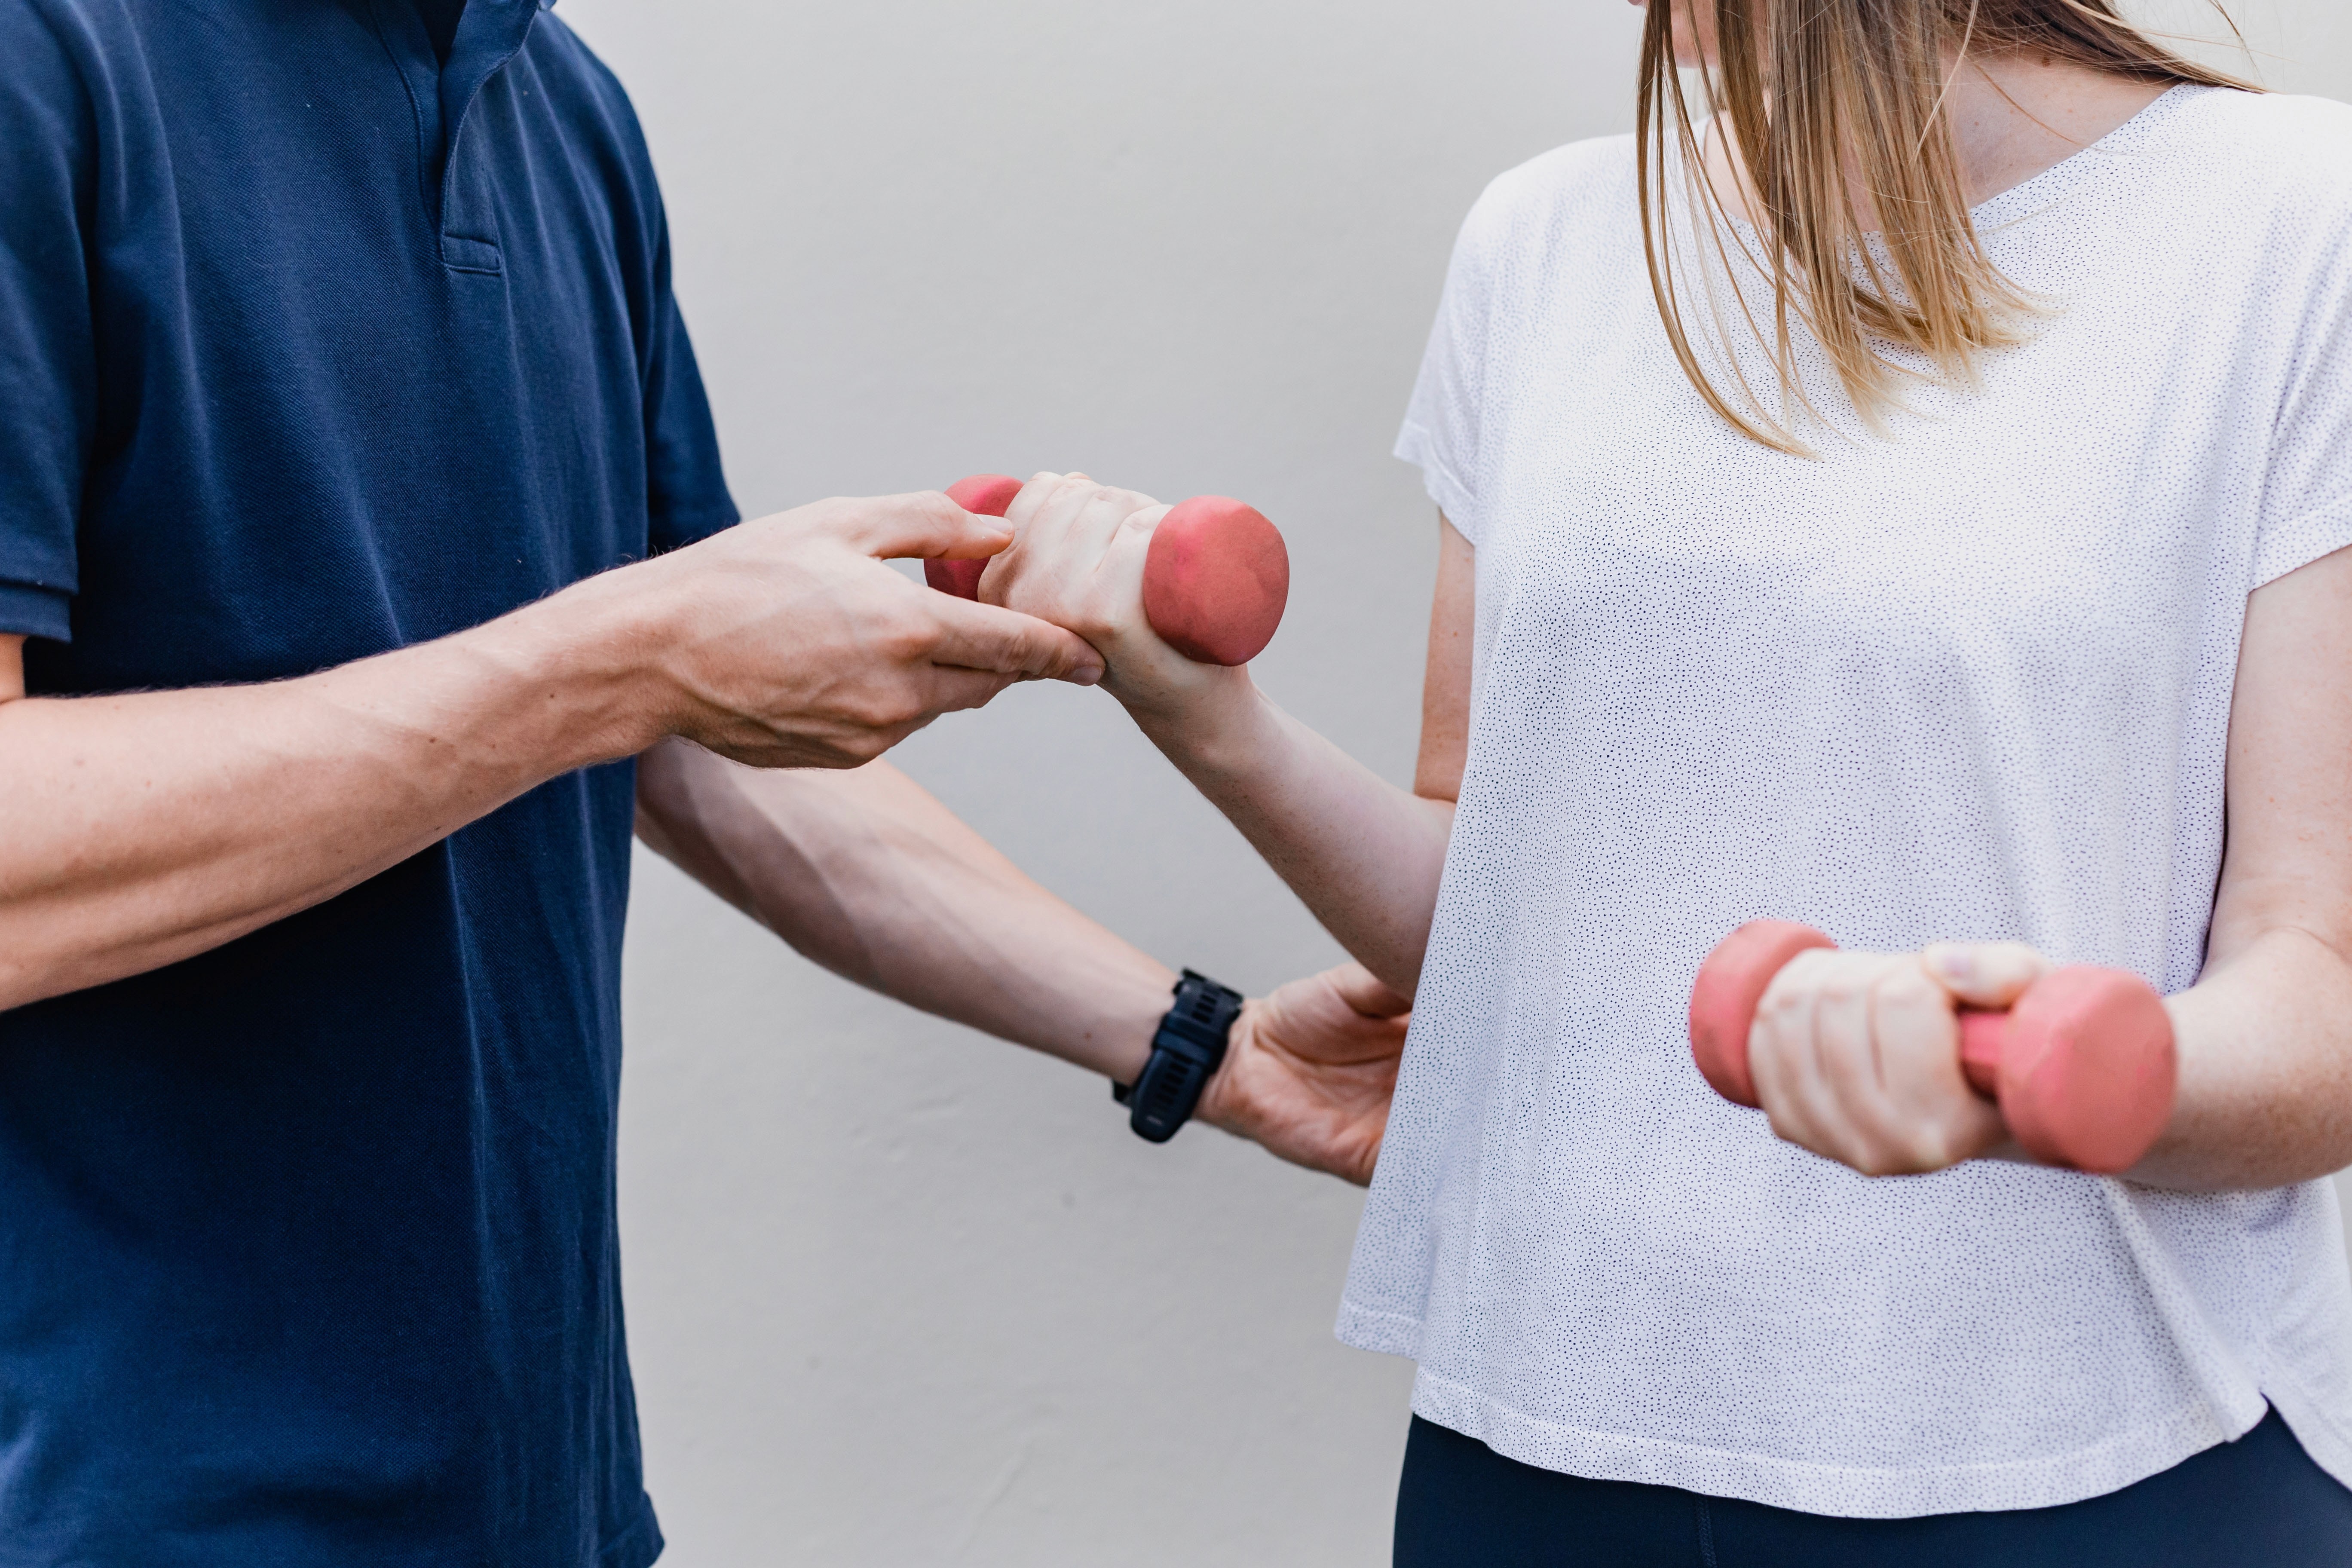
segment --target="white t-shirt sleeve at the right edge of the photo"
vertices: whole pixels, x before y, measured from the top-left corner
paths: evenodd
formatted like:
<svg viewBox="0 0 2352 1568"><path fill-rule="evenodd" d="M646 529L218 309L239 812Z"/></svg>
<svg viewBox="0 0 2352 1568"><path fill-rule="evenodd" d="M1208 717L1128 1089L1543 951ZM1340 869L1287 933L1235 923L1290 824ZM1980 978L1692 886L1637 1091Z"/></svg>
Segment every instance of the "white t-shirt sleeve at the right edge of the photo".
<svg viewBox="0 0 2352 1568"><path fill-rule="evenodd" d="M2352 212L2314 261L2263 484L2253 588L2352 545Z"/></svg>

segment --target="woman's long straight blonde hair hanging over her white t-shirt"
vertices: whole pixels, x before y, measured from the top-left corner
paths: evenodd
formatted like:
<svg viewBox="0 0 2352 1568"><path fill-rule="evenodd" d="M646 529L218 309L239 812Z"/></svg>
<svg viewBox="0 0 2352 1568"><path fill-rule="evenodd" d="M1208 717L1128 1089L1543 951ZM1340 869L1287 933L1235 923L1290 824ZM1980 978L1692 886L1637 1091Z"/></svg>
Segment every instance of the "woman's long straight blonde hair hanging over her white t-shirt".
<svg viewBox="0 0 2352 1568"><path fill-rule="evenodd" d="M1675 12L1696 26L1698 7L1715 19L1708 101L1755 219L1748 230L1731 223L1705 176L1675 68ZM1795 418L1818 418L1797 376L1799 324L1863 423L1879 430L1905 381L1973 383L1978 355L2016 343L2037 310L1985 254L1969 216L1943 115L1947 49L2032 52L2152 85L2244 87L2173 54L2124 21L2112 0L1649 0L1635 146L1651 292L1691 386L1766 447L1811 454ZM1689 280L1677 282L1684 268L1661 179L1672 162L1668 136L1682 158L1698 263L1729 273L1729 237L1771 280L1769 324L1736 275L1731 294L1778 376L1776 407L1750 386L1729 341L1717 343L1729 395L1693 348L1682 303ZM1867 193L1875 233L1865 235L1856 193ZM1710 303L1722 329L1719 301ZM1905 369L1889 348L1931 369Z"/></svg>

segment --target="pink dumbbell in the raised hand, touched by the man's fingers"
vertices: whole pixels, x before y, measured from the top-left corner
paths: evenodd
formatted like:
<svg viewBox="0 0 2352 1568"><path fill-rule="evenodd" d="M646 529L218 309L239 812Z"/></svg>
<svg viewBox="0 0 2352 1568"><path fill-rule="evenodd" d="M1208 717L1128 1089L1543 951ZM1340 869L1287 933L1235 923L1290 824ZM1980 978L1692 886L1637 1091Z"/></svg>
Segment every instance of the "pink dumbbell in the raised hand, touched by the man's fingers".
<svg viewBox="0 0 2352 1568"><path fill-rule="evenodd" d="M967 512L1002 517L1021 480L971 475L948 487ZM981 597L988 562L924 562L931 588ZM1143 557L1143 616L1160 639L1204 665L1247 665L1282 625L1291 597L1291 552L1282 529L1228 496L1195 496L1152 529Z"/></svg>

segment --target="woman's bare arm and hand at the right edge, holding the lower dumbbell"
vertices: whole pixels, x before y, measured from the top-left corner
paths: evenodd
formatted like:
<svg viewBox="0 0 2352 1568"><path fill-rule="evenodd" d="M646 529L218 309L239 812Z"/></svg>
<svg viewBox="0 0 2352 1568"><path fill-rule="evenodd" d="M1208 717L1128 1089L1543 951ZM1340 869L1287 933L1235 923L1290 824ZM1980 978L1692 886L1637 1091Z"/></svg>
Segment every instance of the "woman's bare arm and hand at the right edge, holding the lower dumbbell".
<svg viewBox="0 0 2352 1568"><path fill-rule="evenodd" d="M2352 550L2258 590L2230 715L2230 849L2206 966L2169 1001L2173 1119L2131 1178L2279 1187L2352 1164ZM1952 1060L1952 1001L2009 1006L2051 959L2018 943L1804 954L1750 1046L1773 1128L1870 1175L1997 1152Z"/></svg>

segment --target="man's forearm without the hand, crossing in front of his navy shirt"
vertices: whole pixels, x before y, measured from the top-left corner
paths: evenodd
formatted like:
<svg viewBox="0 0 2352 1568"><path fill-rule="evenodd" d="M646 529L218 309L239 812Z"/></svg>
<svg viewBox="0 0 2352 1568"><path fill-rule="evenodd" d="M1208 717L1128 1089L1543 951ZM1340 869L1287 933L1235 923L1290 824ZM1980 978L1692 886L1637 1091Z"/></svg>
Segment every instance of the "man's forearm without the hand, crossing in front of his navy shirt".
<svg viewBox="0 0 2352 1568"><path fill-rule="evenodd" d="M0 649L0 1011L172 964L652 741L626 625L546 602L266 686L24 698Z"/></svg>

